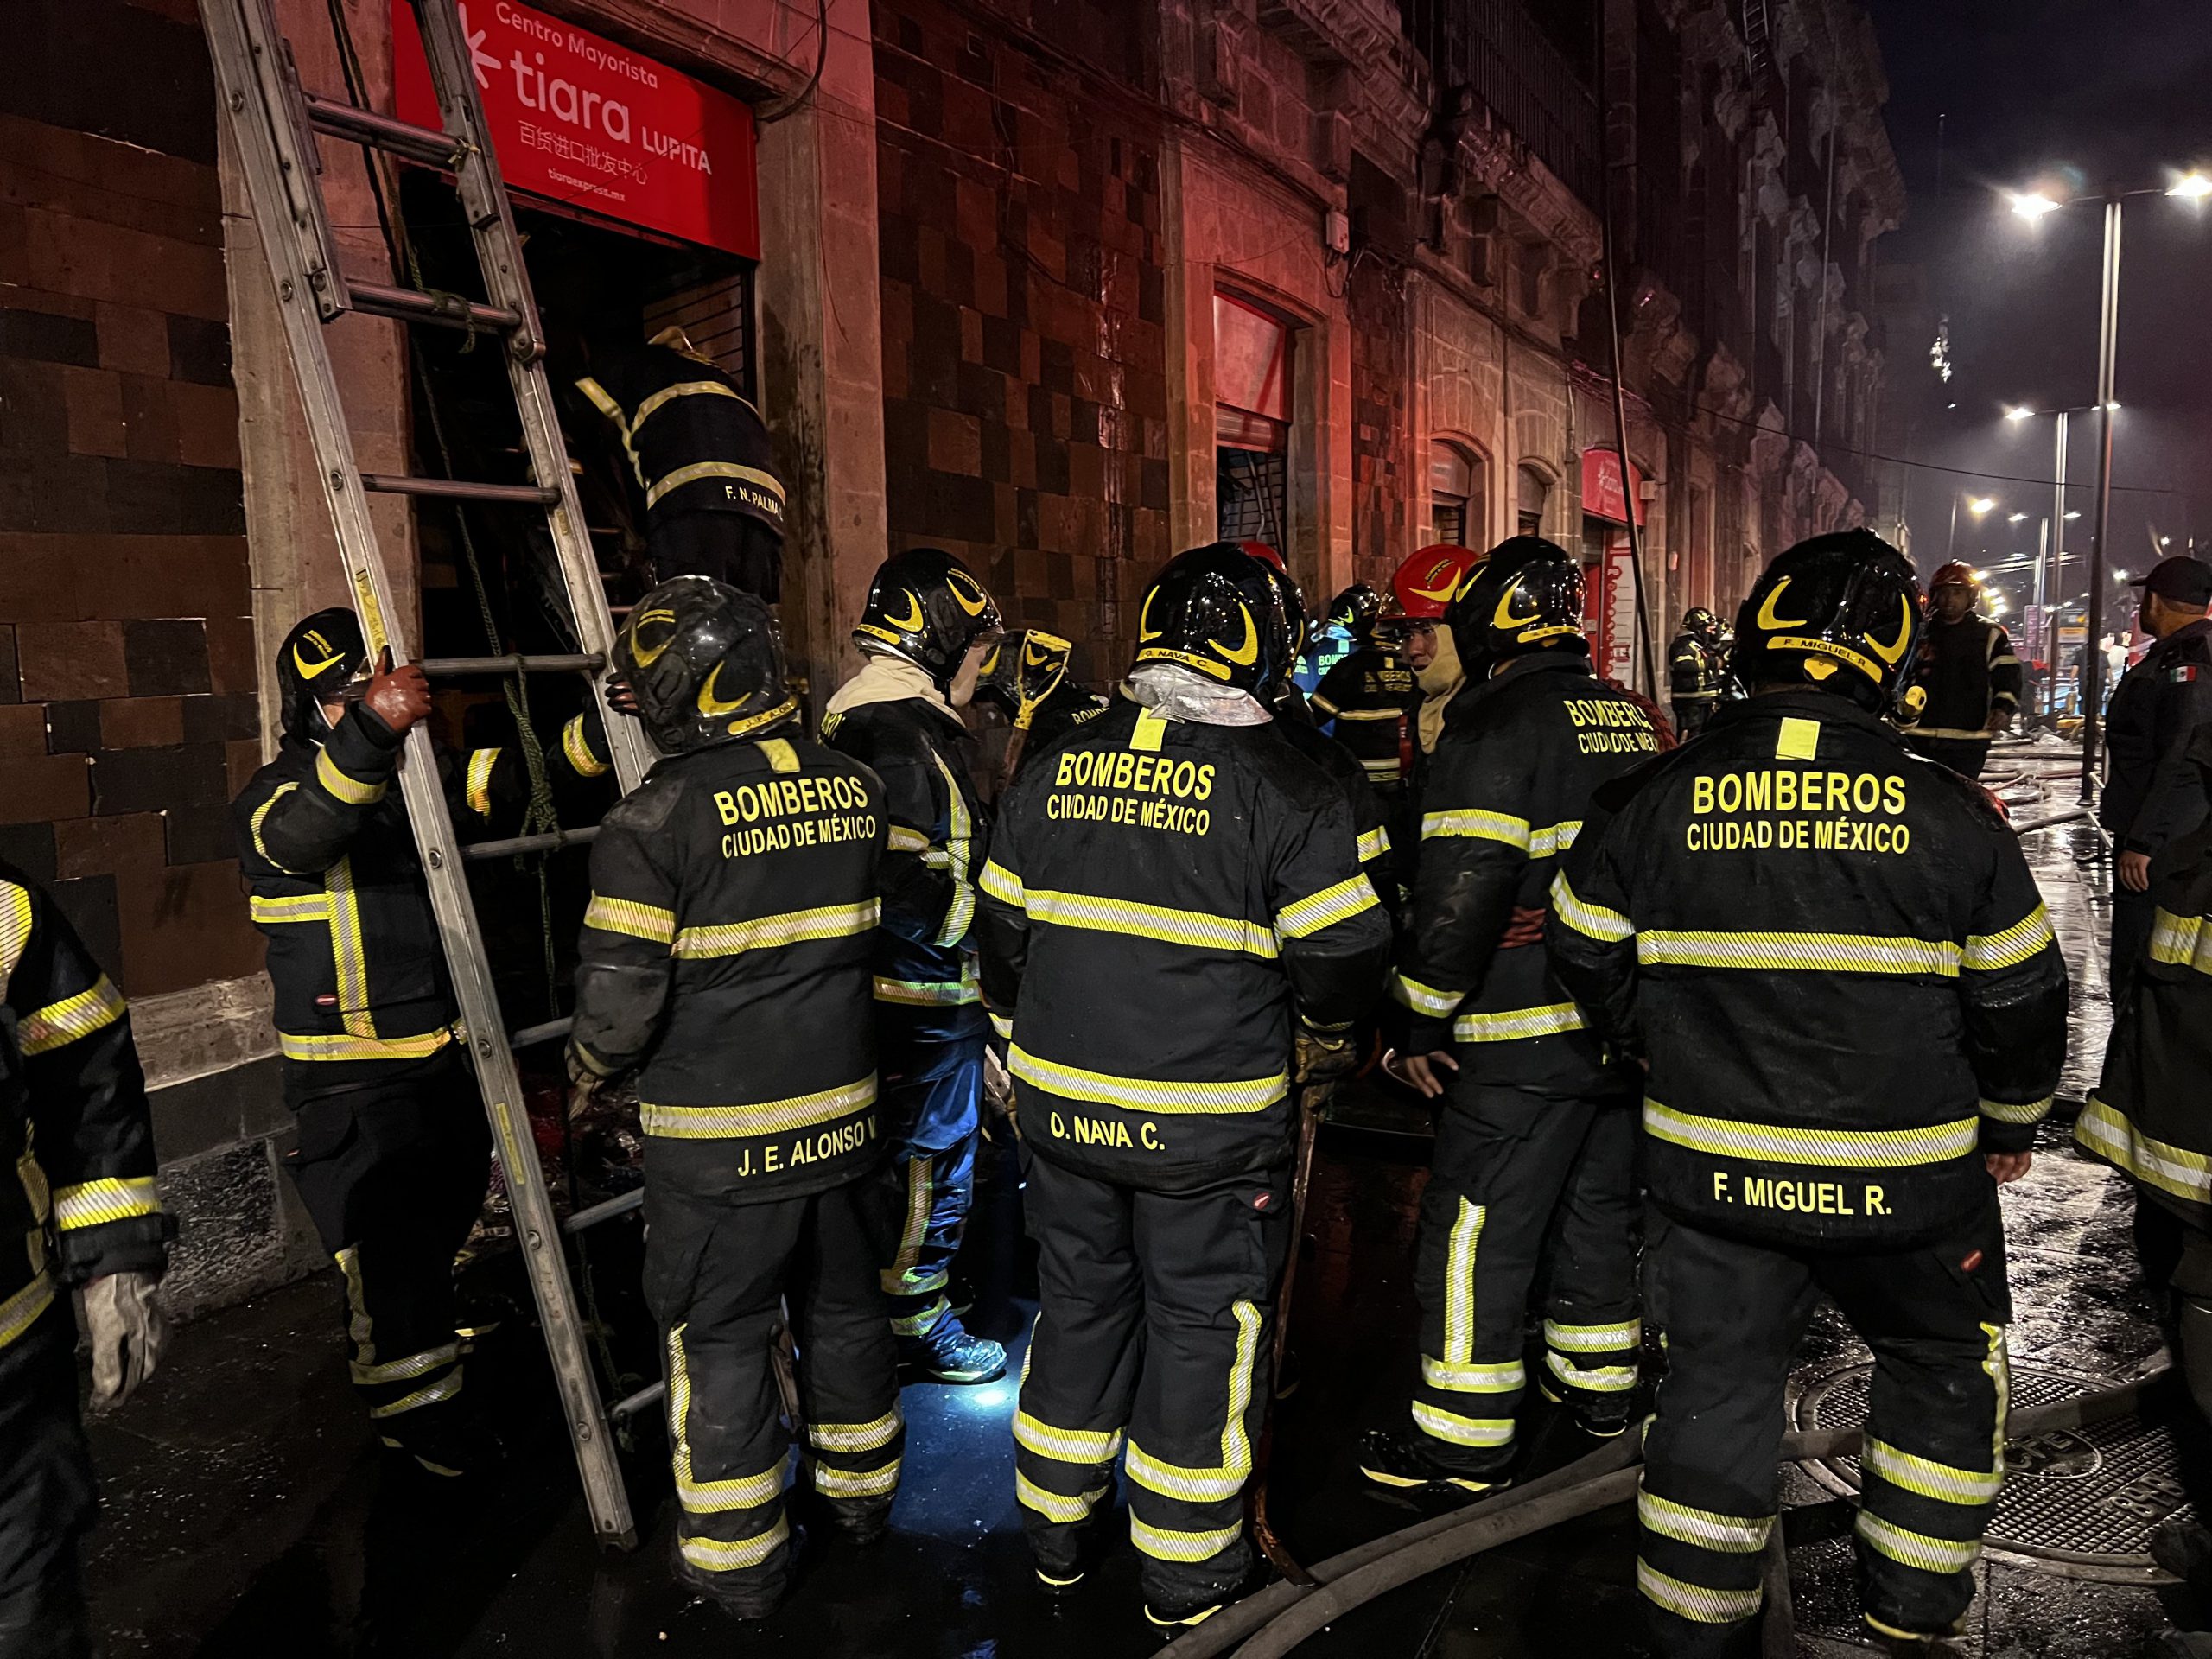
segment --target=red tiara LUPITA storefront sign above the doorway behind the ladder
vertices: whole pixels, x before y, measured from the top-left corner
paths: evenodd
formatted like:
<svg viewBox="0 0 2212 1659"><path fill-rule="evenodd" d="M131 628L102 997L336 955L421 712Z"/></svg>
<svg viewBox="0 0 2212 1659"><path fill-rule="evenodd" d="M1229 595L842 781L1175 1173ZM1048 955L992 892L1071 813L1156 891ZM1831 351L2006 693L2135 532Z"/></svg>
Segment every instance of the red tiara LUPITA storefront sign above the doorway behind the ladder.
<svg viewBox="0 0 2212 1659"><path fill-rule="evenodd" d="M752 111L515 0L462 0L491 148L513 190L761 257ZM398 117L442 126L414 7L392 0Z"/></svg>

